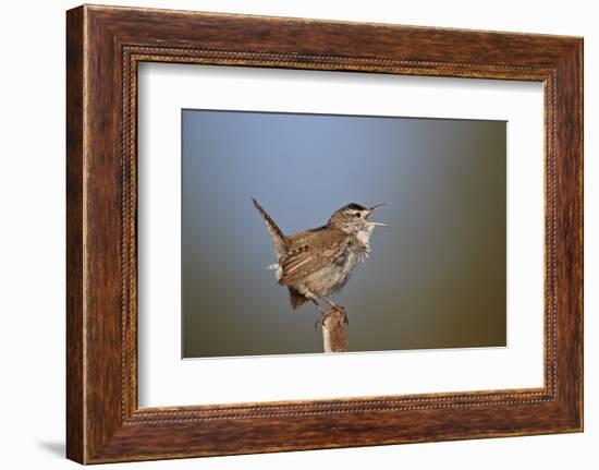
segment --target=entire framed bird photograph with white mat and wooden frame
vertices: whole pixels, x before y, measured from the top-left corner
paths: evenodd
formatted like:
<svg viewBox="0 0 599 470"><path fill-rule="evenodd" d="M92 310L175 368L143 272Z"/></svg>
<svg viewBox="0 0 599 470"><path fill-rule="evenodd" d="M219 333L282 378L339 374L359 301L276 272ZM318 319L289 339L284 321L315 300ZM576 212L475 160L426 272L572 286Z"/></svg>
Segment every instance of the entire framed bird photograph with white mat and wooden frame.
<svg viewBox="0 0 599 470"><path fill-rule="evenodd" d="M69 458L583 430L582 38L66 20Z"/></svg>

